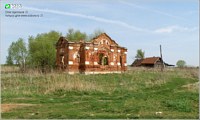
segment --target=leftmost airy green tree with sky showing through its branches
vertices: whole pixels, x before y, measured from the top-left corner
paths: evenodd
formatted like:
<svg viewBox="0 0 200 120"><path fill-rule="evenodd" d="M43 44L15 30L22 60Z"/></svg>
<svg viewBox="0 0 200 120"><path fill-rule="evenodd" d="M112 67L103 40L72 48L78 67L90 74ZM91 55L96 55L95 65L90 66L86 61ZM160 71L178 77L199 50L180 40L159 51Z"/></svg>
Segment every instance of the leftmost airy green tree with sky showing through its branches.
<svg viewBox="0 0 200 120"><path fill-rule="evenodd" d="M10 45L6 63L8 65L16 64L22 71L24 71L27 55L28 51L25 42L22 38L19 38L16 42L12 42Z"/></svg>

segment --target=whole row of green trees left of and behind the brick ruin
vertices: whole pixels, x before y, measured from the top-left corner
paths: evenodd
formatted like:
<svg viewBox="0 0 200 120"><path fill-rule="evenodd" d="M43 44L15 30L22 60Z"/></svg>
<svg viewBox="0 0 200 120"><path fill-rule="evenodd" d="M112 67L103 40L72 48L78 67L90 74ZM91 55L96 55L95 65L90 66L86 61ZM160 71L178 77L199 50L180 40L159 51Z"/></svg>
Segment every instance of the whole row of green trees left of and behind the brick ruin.
<svg viewBox="0 0 200 120"><path fill-rule="evenodd" d="M103 33L103 30L95 30L92 34L87 35L85 32L71 28L68 29L64 37L72 42L89 41L101 33ZM62 33L57 31L41 33L36 36L29 36L27 44L23 38L19 38L9 46L6 64L17 65L21 71L25 71L27 68L37 68L42 72L54 69L55 45L60 36L62 36Z"/></svg>

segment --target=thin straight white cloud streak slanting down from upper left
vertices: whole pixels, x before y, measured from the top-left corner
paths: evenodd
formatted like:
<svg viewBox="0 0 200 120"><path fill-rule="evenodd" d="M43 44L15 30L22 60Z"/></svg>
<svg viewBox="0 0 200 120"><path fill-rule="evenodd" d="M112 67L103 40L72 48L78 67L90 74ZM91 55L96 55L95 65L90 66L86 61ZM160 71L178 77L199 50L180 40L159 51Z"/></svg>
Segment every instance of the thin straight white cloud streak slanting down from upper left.
<svg viewBox="0 0 200 120"><path fill-rule="evenodd" d="M51 14L80 17L80 18L85 18L85 19L94 20L94 21L98 21L98 22L115 24L115 25L118 25L118 26L122 26L122 27L125 27L125 28L132 29L134 31L149 32L147 29L136 27L136 26L130 25L126 22L119 21L119 20L111 20L111 19L105 19L105 18L101 18L101 17L97 17L97 16L91 16L91 15L85 15L85 14L79 14L79 13L72 13L72 12L66 12L66 11L50 10L50 9L39 9L39 8L33 8L33 7L24 7L24 9L46 12L46 13L51 13Z"/></svg>

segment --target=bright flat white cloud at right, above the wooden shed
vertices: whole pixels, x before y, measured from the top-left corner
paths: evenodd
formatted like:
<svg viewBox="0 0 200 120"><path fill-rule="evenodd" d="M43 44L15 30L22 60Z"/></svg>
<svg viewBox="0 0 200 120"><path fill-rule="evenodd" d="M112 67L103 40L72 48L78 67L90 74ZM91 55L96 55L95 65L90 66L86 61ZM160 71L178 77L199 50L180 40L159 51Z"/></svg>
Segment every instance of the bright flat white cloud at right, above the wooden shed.
<svg viewBox="0 0 200 120"><path fill-rule="evenodd" d="M193 28L188 28L188 27L181 27L178 25L173 25L173 26L167 26L163 28L158 28L154 30L155 33L172 33L172 32L192 32L192 31L197 31L197 27Z"/></svg>

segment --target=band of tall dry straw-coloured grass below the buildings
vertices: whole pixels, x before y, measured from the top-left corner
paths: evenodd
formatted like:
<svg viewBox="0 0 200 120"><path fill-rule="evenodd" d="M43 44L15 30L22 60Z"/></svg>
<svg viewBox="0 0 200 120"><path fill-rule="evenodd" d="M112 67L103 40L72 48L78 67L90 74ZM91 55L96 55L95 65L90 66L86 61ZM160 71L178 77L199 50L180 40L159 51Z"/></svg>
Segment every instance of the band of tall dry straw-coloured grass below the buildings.
<svg viewBox="0 0 200 120"><path fill-rule="evenodd" d="M13 72L18 68L2 67L1 90L3 94L32 95L51 94L56 91L100 91L116 90L140 91L143 88L161 86L171 77L198 78L198 69L170 68L159 69L133 68L121 74L105 75L68 75L63 72L43 74L37 70L25 73Z"/></svg>

